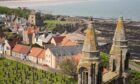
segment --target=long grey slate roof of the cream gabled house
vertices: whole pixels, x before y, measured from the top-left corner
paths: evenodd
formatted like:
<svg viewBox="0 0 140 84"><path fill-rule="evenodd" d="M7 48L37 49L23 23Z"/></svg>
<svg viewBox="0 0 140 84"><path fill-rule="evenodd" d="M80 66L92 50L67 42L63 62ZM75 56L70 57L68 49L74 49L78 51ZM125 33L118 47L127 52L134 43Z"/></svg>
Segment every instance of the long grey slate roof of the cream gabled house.
<svg viewBox="0 0 140 84"><path fill-rule="evenodd" d="M80 53L82 50L82 46L59 46L49 49L54 56L72 56Z"/></svg>

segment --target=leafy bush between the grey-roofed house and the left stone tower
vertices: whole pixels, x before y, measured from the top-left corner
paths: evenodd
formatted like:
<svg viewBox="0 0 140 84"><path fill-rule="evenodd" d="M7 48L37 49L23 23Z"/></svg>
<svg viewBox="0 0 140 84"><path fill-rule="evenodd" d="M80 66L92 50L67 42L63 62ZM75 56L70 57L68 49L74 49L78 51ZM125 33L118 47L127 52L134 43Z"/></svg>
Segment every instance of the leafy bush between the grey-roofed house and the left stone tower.
<svg viewBox="0 0 140 84"><path fill-rule="evenodd" d="M67 58L60 62L60 69L64 74L67 74L74 79L77 79L77 65L78 62L73 58Z"/></svg>

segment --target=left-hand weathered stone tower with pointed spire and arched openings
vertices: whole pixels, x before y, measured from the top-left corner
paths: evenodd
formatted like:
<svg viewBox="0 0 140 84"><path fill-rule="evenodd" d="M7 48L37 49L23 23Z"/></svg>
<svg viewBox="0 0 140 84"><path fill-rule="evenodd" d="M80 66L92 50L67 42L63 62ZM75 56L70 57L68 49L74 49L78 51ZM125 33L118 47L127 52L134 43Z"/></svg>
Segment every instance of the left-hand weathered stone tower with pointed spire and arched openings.
<svg viewBox="0 0 140 84"><path fill-rule="evenodd" d="M101 84L100 52L91 20L86 30L82 57L78 64L78 84Z"/></svg>

